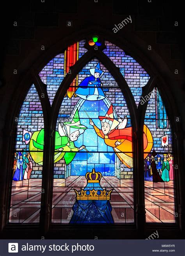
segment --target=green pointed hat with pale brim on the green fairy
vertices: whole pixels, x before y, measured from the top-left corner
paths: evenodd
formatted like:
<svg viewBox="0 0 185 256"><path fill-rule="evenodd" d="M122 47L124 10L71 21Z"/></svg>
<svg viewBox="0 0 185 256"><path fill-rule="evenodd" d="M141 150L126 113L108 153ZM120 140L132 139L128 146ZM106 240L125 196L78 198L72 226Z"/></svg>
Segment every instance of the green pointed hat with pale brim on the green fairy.
<svg viewBox="0 0 185 256"><path fill-rule="evenodd" d="M85 131L85 129L87 129L86 126L84 126L83 124L80 124L80 117L78 114L78 109L75 112L73 120L71 122L65 122L64 126L66 128L68 136L75 130L79 130L80 134L82 134Z"/></svg>

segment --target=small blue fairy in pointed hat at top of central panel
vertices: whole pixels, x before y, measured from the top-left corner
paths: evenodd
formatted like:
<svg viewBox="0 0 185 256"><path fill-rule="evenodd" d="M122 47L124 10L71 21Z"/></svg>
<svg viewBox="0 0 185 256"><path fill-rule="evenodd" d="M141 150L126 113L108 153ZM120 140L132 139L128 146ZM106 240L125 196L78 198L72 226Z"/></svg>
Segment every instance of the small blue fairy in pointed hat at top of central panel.
<svg viewBox="0 0 185 256"><path fill-rule="evenodd" d="M88 101L100 101L105 98L103 90L100 88L102 83L100 77L103 75L103 71L100 69L100 63L96 67L89 69L91 76L87 76L79 85L75 94L80 98Z"/></svg>

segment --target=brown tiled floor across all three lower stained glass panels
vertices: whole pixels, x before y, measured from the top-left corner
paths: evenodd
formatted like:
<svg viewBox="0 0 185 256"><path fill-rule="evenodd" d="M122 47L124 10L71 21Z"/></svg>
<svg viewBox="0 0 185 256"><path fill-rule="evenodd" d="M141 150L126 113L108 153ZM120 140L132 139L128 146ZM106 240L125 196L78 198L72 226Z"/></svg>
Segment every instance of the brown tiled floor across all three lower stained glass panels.
<svg viewBox="0 0 185 256"><path fill-rule="evenodd" d="M86 184L87 180L84 176L71 176L66 180L54 179L52 213L54 223L69 223L76 199L74 188L80 190L80 187L85 187ZM104 176L100 184L108 190L114 189L110 200L114 223L133 223L133 180ZM175 222L173 181L161 183L146 181L145 198L147 222ZM41 179L13 182L9 221L39 222L40 204Z"/></svg>

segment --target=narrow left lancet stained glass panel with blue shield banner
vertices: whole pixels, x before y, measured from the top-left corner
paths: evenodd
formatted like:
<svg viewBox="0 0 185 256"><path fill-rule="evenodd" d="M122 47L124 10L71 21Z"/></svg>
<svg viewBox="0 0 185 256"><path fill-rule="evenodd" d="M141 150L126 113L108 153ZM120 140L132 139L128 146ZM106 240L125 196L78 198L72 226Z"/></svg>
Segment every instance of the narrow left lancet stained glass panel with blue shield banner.
<svg viewBox="0 0 185 256"><path fill-rule="evenodd" d="M44 133L44 119L41 103L34 85L30 87L15 120L17 133L15 150L12 155L10 223L39 222L41 207L42 148L34 145L38 130Z"/></svg>

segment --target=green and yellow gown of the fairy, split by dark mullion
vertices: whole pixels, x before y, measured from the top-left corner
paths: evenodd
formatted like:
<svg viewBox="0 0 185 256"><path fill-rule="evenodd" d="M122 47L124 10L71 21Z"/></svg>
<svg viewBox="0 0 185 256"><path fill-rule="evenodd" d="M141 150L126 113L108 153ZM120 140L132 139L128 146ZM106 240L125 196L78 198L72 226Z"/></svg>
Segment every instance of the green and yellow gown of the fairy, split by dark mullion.
<svg viewBox="0 0 185 256"><path fill-rule="evenodd" d="M59 148L63 148L59 151ZM44 149L44 129L33 133L30 139L29 150L34 162L43 165L43 149ZM36 152L33 152L36 151ZM69 140L68 136L60 136L59 132L55 131L55 153L54 162L59 162L64 158L66 164L69 164L78 152L73 141Z"/></svg>

